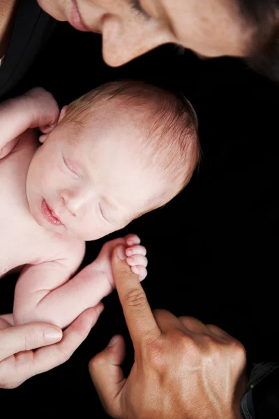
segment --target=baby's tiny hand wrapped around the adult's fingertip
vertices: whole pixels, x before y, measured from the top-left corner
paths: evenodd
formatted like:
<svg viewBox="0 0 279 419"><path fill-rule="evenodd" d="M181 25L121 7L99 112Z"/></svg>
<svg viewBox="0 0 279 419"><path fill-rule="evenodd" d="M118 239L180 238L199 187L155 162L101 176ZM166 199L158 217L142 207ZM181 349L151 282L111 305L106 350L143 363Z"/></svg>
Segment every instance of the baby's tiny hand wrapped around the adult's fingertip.
<svg viewBox="0 0 279 419"><path fill-rule="evenodd" d="M129 234L126 237L111 240L103 245L98 258L94 260L93 265L103 272L114 288L114 277L112 274L112 251L118 244L126 246L127 263L131 270L137 274L140 281L147 275L146 249L140 245L140 237L135 234Z"/></svg>

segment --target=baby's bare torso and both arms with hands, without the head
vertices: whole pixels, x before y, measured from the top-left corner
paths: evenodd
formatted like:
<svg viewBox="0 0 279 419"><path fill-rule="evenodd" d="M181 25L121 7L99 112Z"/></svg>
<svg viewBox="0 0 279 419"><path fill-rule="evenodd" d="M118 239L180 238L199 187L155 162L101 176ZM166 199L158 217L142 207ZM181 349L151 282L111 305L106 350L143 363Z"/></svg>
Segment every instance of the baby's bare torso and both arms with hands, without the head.
<svg viewBox="0 0 279 419"><path fill-rule="evenodd" d="M61 226L56 230L47 219L41 226L31 215L27 200L27 172L38 150L38 131L25 130L28 126L51 126L59 115L54 99L45 95L50 94L35 91L28 105L36 103L36 112L39 105L42 109L39 115L32 114L31 119L22 121L22 112L27 113L22 108L25 103L20 101L20 114L15 101L12 105L9 102L7 108L5 103L1 104L0 277L23 267L15 287L15 324L47 321L65 328L114 288L110 260L116 244L126 245L128 263L140 279L146 277L147 260L140 239L129 235L107 242L98 258L73 277L84 257L84 240L61 231ZM48 128L41 129L48 131Z"/></svg>

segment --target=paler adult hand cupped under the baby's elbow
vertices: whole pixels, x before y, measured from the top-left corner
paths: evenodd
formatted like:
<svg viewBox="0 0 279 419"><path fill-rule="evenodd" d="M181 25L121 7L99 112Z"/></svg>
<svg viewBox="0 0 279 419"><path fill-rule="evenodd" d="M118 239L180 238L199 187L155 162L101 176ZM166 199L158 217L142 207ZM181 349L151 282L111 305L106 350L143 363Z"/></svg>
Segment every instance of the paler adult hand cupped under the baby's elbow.
<svg viewBox="0 0 279 419"><path fill-rule="evenodd" d="M12 314L0 316L0 388L15 388L66 362L102 311L103 304L87 309L63 332L48 323L13 326ZM35 348L39 349L33 351Z"/></svg>

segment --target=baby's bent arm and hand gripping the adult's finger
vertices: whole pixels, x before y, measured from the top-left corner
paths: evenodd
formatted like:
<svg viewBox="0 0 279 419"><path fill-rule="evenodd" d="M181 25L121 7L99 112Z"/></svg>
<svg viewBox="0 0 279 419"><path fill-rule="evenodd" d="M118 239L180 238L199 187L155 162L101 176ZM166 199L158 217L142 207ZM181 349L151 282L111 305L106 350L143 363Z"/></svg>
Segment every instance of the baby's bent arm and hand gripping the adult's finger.
<svg viewBox="0 0 279 419"><path fill-rule="evenodd" d="M135 240L131 237L135 237ZM29 266L24 269L15 287L15 324L46 321L66 328L82 311L94 307L105 295L112 292L112 249L117 244L127 244L129 240L127 251L134 251L134 255L127 258L128 263L133 266L140 279L144 279L146 251L138 244L138 237L135 235L107 242L98 258L73 279L70 277L82 262L83 253L78 258L75 256L75 260L70 257ZM75 252L75 255L77 253L79 252Z"/></svg>

